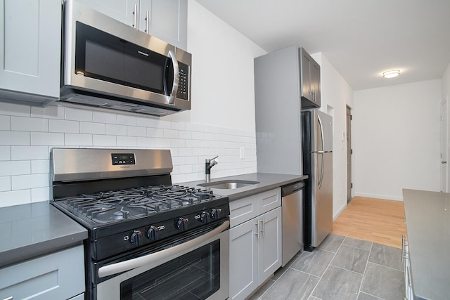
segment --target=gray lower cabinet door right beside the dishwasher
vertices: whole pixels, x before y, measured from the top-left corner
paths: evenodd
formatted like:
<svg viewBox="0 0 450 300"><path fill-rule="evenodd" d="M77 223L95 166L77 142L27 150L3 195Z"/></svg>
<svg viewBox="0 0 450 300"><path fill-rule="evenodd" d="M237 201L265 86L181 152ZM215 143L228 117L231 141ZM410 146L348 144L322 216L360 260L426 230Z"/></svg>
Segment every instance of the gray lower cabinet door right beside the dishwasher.
<svg viewBox="0 0 450 300"><path fill-rule="evenodd" d="M270 278L281 267L281 207L259 216L258 266L259 283Z"/></svg>

